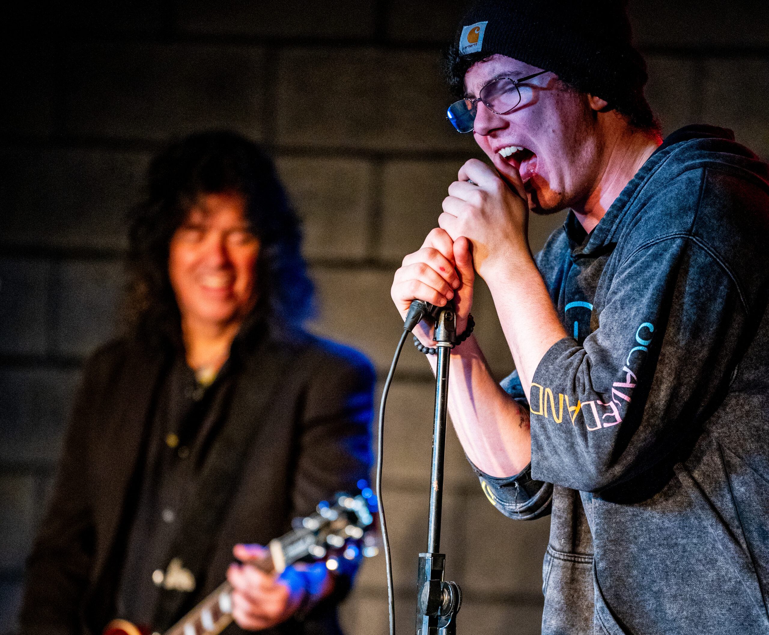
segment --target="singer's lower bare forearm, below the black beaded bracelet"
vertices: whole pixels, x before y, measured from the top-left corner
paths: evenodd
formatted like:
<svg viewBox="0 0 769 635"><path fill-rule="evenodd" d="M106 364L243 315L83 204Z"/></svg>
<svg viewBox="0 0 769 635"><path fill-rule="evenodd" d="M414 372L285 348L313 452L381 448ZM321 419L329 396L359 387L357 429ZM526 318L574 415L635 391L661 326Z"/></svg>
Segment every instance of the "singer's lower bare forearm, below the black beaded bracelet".
<svg viewBox="0 0 769 635"><path fill-rule="evenodd" d="M435 372L437 356L428 355ZM531 460L528 410L491 376L478 341L451 352L448 409L468 458L491 476L512 476Z"/></svg>

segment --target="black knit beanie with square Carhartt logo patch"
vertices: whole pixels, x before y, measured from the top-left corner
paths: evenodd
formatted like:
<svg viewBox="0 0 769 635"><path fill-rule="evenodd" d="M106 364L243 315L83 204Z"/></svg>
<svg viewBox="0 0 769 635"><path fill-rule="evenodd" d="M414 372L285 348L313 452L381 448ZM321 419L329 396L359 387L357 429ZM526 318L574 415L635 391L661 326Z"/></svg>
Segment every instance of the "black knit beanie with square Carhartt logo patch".
<svg viewBox="0 0 769 635"><path fill-rule="evenodd" d="M459 25L450 57L507 55L554 72L624 112L639 98L645 102L647 80L644 59L631 45L624 5L622 0L480 0Z"/></svg>

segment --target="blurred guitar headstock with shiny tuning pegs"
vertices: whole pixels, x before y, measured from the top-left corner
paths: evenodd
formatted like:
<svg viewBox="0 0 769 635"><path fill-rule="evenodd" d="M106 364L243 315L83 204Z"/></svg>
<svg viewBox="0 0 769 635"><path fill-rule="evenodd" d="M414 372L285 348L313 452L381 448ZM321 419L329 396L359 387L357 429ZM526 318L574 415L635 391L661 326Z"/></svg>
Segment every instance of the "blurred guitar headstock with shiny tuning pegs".
<svg viewBox="0 0 769 635"><path fill-rule="evenodd" d="M281 572L298 560L325 558L333 571L344 560L377 555L376 496L365 480L358 481L358 487L359 493L338 493L331 503L321 500L314 514L295 519L293 531L273 540L269 547L275 570Z"/></svg>

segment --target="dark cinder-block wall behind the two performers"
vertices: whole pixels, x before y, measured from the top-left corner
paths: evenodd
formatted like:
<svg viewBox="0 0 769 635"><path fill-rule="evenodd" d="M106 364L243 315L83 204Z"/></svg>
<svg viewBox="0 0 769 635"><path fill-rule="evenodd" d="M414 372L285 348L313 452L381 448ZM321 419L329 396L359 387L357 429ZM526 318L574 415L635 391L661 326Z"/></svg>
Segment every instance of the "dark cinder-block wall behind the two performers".
<svg viewBox="0 0 769 635"><path fill-rule="evenodd" d="M305 223L321 311L312 328L384 373L404 254L478 155L444 119L438 75L458 0L112 0L2 9L0 99L0 633L13 633L23 564L83 360L115 333L124 217L170 135L227 126L263 142ZM734 129L769 159L769 3L636 0L647 96L664 132ZM538 249L562 214L531 222ZM481 290L474 315L494 372L512 363ZM389 400L386 496L401 632L424 550L431 374L407 350ZM513 523L484 499L449 434L444 543L461 633L538 633L548 519ZM386 632L382 557L343 608L350 635Z"/></svg>

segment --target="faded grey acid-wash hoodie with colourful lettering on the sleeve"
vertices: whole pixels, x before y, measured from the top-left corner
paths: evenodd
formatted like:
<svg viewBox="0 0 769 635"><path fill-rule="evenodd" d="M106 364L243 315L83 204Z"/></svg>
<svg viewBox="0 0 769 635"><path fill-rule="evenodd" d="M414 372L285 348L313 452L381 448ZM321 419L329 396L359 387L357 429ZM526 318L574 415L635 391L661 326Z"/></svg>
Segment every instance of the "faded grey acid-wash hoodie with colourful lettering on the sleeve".
<svg viewBox="0 0 769 635"><path fill-rule="evenodd" d="M531 466L479 476L512 518L551 496L543 633L769 632L767 254L769 169L708 126L538 254L570 336L534 374Z"/></svg>

